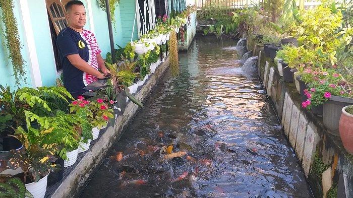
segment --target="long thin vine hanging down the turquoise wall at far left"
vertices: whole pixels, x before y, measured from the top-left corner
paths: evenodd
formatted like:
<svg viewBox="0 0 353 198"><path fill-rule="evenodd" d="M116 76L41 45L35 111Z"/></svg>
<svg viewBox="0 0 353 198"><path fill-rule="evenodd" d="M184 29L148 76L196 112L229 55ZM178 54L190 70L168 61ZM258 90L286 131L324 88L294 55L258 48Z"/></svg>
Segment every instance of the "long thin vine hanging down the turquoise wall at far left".
<svg viewBox="0 0 353 198"><path fill-rule="evenodd" d="M6 45L9 50L9 58L14 70L15 84L20 86L20 81L26 82L26 71L24 60L21 55L21 41L17 22L14 16L14 4L12 0L0 0L2 18L5 26Z"/></svg>

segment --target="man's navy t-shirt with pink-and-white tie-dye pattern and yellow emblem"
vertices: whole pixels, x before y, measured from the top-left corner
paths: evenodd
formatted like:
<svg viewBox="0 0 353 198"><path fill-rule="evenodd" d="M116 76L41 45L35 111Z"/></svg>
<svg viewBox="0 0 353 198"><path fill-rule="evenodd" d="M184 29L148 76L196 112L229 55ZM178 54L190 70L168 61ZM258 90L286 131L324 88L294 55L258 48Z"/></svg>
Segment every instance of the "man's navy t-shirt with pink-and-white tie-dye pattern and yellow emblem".
<svg viewBox="0 0 353 198"><path fill-rule="evenodd" d="M64 86L74 98L77 98L87 91L83 90L85 86L98 79L77 69L67 56L79 54L91 67L98 70L97 54L101 50L92 32L87 30L77 32L69 27L57 35L56 45L63 65Z"/></svg>

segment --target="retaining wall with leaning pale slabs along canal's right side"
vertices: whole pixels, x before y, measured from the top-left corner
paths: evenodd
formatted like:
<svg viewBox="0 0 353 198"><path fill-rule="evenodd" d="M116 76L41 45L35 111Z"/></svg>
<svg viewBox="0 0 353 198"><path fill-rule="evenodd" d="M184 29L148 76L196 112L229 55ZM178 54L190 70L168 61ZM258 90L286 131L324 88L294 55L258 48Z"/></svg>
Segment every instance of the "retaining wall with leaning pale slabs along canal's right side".
<svg viewBox="0 0 353 198"><path fill-rule="evenodd" d="M247 49L259 55L260 80L314 196L353 197L353 156L344 150L339 137L327 132L322 118L302 108L295 84L282 81L277 64L265 56L253 36L247 38Z"/></svg>

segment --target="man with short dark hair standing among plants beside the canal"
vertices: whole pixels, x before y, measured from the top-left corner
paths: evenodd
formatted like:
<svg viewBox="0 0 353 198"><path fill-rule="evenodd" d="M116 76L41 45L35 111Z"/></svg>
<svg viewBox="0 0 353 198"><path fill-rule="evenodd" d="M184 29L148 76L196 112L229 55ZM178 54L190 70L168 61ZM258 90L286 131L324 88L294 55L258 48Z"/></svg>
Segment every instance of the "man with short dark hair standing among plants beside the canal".
<svg viewBox="0 0 353 198"><path fill-rule="evenodd" d="M68 27L57 35L56 45L63 65L64 86L77 99L87 91L83 89L85 86L105 78L103 74L110 72L104 65L94 34L83 29L86 24L83 3L70 1L65 9Z"/></svg>

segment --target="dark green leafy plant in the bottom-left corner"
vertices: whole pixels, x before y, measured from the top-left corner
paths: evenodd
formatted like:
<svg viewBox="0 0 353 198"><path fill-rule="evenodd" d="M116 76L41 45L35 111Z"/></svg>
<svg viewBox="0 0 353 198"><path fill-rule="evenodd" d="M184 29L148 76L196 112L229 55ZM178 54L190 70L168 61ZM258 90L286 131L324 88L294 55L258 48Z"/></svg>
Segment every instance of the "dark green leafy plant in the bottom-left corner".
<svg viewBox="0 0 353 198"><path fill-rule="evenodd" d="M0 197L33 198L25 184L17 177L0 175Z"/></svg>

